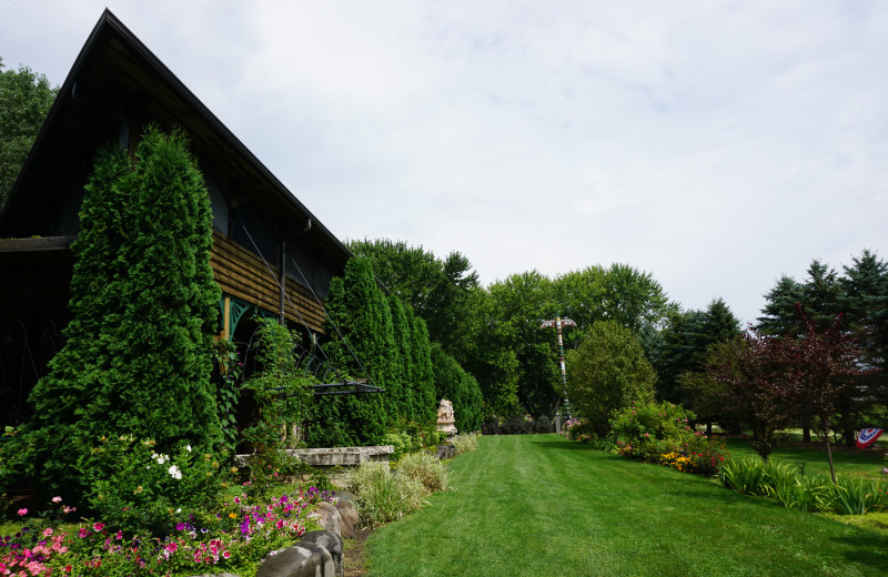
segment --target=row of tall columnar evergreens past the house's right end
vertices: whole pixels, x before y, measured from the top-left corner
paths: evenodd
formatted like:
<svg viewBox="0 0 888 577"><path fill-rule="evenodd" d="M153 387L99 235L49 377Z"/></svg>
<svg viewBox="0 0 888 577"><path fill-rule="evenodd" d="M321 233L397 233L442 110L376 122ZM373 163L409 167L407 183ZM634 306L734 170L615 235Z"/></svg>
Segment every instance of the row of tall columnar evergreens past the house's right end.
<svg viewBox="0 0 888 577"><path fill-rule="evenodd" d="M428 331L410 306L383 294L370 260L349 261L343 277L331 283L326 312L327 356L385 393L316 399L309 444L371 445L405 427L432 428L437 398Z"/></svg>

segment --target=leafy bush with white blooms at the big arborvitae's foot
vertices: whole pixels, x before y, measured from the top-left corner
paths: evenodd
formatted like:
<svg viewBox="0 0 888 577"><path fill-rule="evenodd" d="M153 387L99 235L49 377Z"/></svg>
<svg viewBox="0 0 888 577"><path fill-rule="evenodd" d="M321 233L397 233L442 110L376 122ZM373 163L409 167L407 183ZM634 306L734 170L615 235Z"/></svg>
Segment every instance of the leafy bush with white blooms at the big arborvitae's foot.
<svg viewBox="0 0 888 577"><path fill-rule="evenodd" d="M165 535L183 510L212 508L228 475L218 457L182 442L172 456L152 439L102 437L78 462L99 518L128 533Z"/></svg>

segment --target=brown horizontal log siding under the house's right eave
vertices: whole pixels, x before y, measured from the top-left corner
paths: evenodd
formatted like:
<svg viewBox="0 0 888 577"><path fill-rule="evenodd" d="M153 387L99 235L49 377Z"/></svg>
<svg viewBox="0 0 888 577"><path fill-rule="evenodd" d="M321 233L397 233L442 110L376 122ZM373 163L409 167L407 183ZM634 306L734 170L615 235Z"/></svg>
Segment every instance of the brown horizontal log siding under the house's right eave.
<svg viewBox="0 0 888 577"><path fill-rule="evenodd" d="M231 242L218 231L213 231L210 266L223 293L273 313L279 311L281 290L262 259ZM276 266L271 266L271 270L275 277L280 277ZM323 332L323 308L314 300L311 291L290 275L286 277L286 296L284 307L287 321L305 324L315 332ZM294 311L294 306L299 314Z"/></svg>

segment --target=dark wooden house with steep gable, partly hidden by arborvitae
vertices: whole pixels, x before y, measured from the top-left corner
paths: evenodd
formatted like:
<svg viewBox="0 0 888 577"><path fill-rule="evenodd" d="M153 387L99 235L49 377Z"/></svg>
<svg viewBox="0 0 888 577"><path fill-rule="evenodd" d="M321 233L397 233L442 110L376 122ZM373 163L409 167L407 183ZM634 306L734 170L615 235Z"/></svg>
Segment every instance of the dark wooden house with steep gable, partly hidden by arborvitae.
<svg viewBox="0 0 888 577"><path fill-rule="evenodd" d="M26 416L28 394L70 320L70 245L93 156L109 141L134 150L152 122L183 129L206 181L221 335L243 335L251 310L322 331L330 281L350 251L105 10L0 214L2 424Z"/></svg>

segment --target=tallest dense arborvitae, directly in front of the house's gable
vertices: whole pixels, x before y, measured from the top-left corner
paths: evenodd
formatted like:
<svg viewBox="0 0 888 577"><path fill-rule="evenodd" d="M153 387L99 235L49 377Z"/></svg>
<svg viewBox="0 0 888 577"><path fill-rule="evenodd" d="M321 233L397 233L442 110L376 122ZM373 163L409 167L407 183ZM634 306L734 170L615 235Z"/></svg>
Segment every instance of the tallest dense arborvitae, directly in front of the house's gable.
<svg viewBox="0 0 888 577"><path fill-rule="evenodd" d="M129 166L105 150L87 185L68 338L31 394L37 478L82 490L70 464L102 435L221 439L212 372L219 286L209 194L180 133L149 129Z"/></svg>

